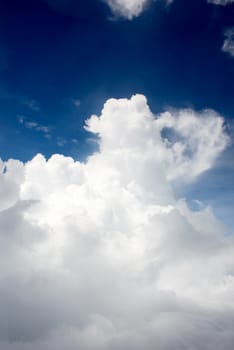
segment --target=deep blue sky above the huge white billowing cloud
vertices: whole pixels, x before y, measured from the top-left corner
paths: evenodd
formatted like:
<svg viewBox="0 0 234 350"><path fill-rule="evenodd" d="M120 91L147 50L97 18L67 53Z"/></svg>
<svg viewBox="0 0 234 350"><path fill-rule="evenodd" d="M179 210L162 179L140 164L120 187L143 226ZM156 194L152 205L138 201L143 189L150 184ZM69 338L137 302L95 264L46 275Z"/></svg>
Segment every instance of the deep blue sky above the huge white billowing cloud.
<svg viewBox="0 0 234 350"><path fill-rule="evenodd" d="M110 16L98 0L0 2L3 159L27 160L37 152L76 156L71 139L85 156L93 146L85 142L84 120L108 97L136 92L154 112L209 107L233 118L234 59L221 47L234 6L176 0L167 8L155 2L132 21ZM49 126L51 137L20 124L20 116ZM58 138L67 143L58 146Z"/></svg>

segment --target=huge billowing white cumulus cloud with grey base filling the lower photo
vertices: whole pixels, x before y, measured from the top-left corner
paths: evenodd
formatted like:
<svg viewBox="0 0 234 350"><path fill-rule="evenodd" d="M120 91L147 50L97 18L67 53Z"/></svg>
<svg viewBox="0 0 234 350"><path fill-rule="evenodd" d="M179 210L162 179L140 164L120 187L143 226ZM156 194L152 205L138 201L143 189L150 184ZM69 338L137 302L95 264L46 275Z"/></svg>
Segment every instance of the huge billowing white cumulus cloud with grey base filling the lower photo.
<svg viewBox="0 0 234 350"><path fill-rule="evenodd" d="M86 162L1 162L0 348L231 350L234 242L195 181L228 144L214 111L108 100Z"/></svg>

